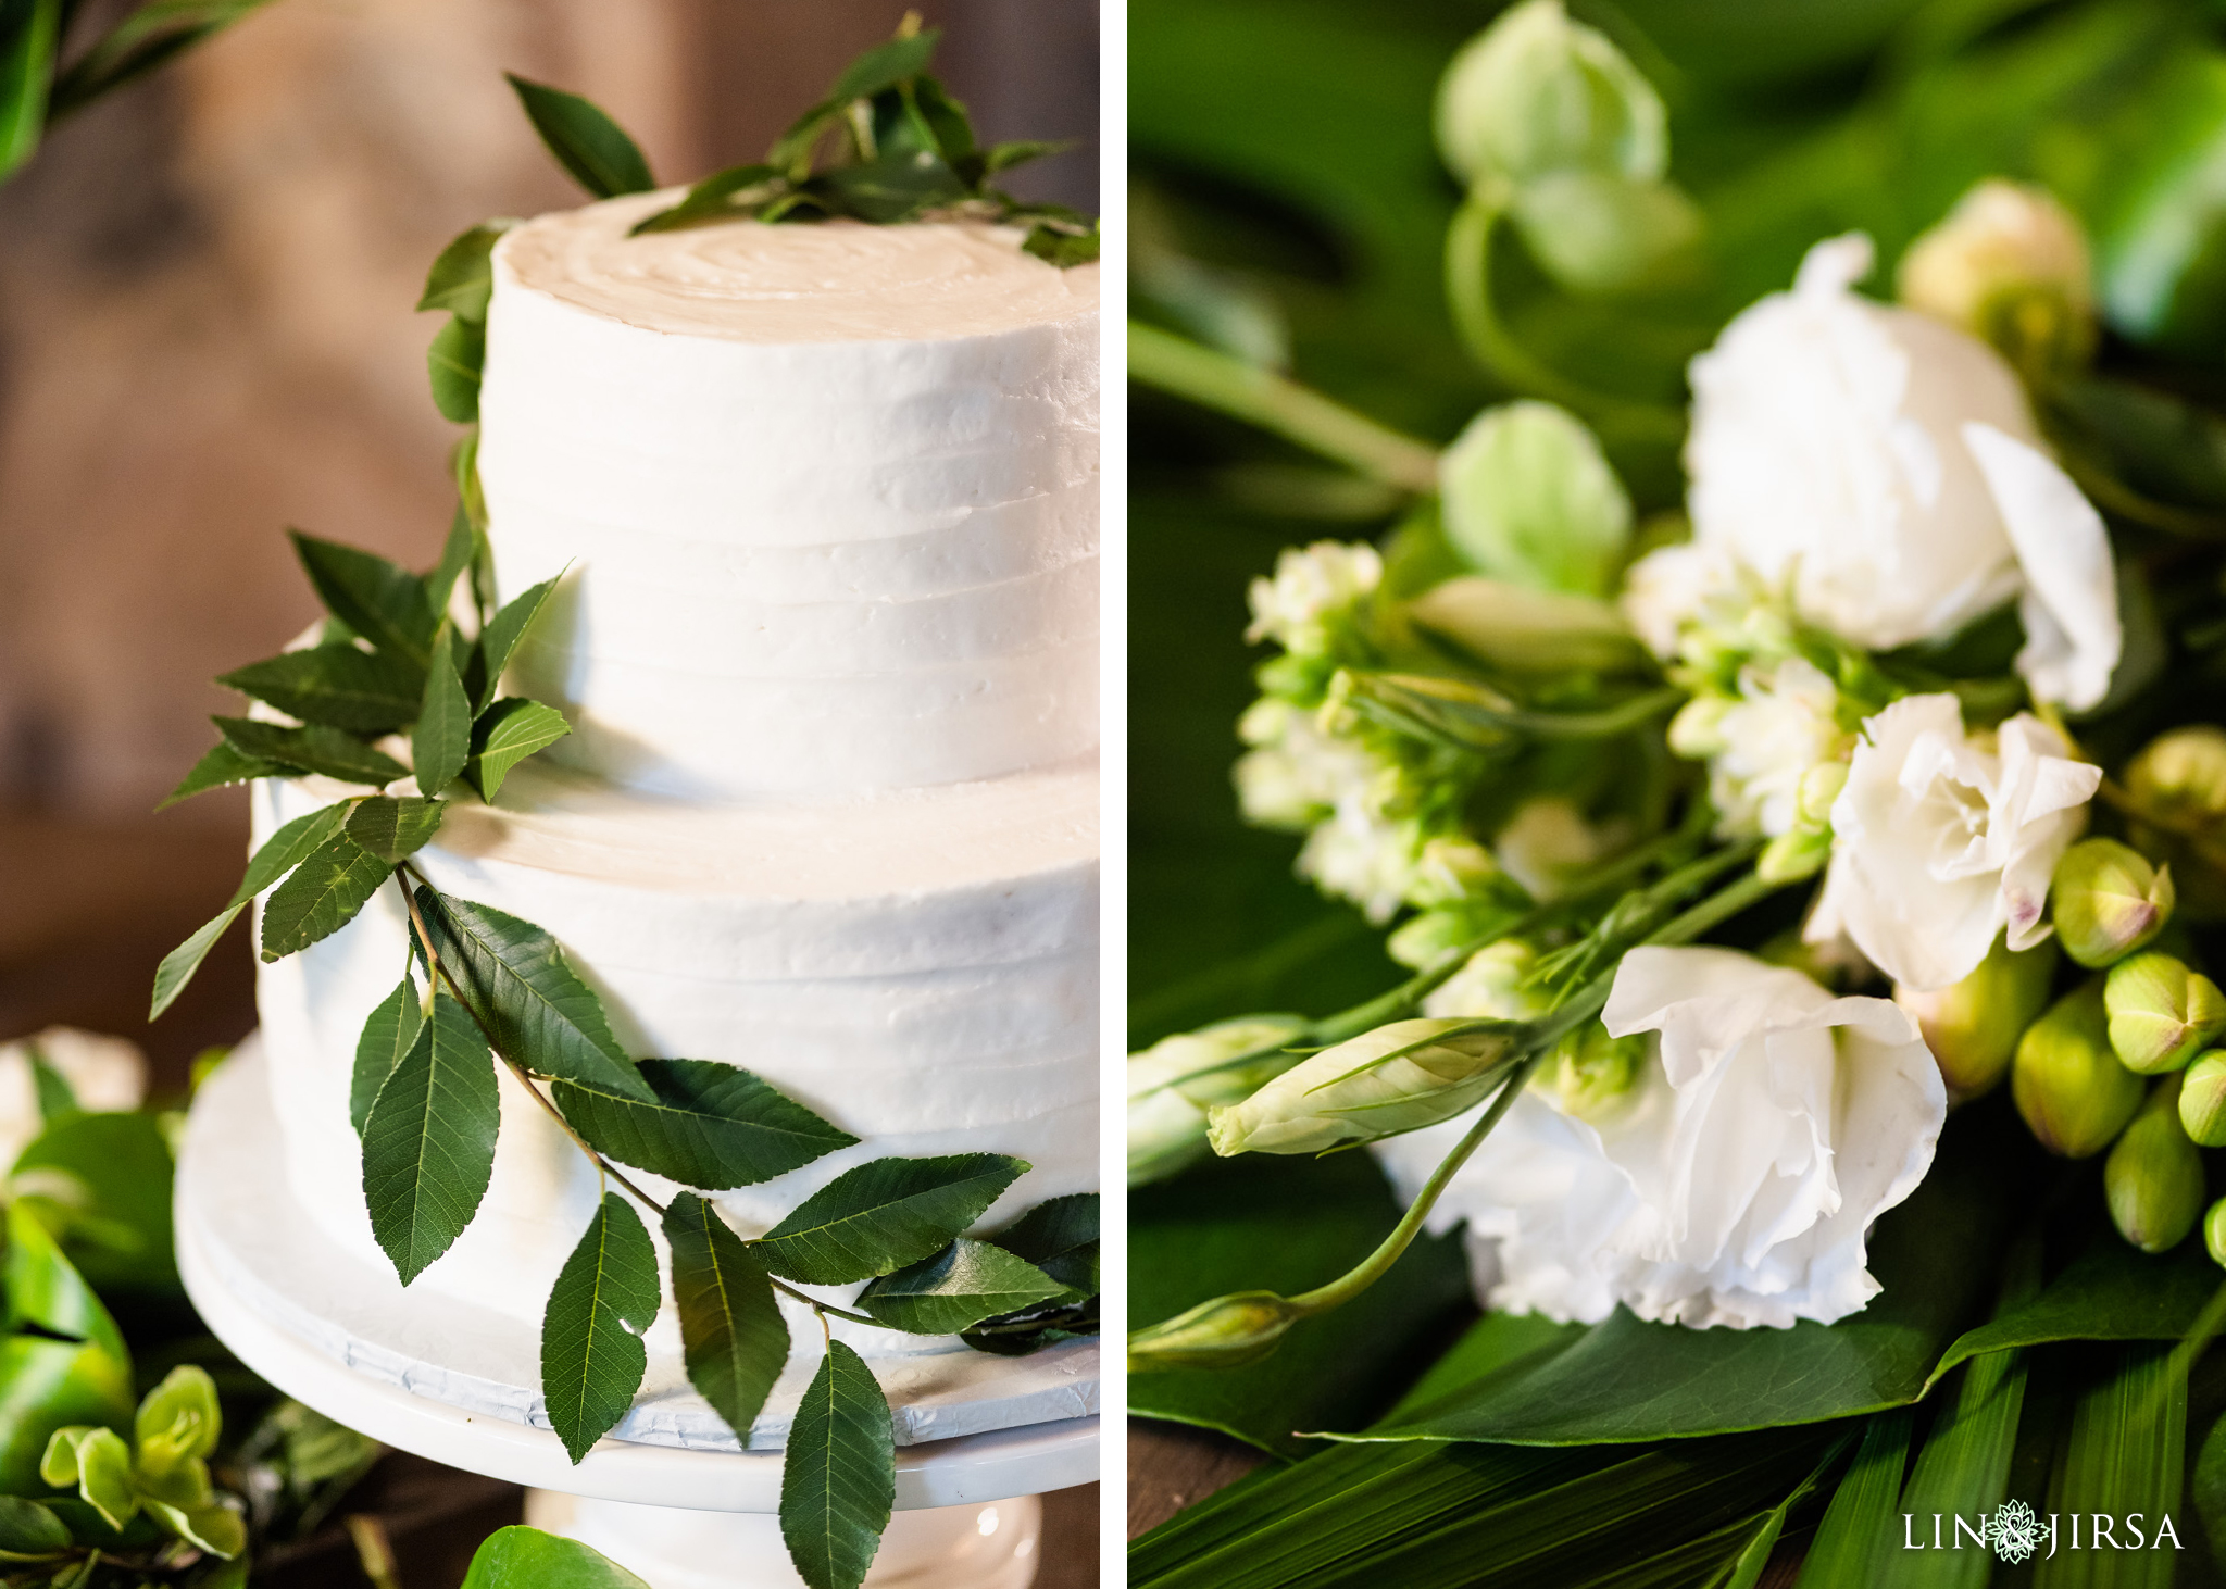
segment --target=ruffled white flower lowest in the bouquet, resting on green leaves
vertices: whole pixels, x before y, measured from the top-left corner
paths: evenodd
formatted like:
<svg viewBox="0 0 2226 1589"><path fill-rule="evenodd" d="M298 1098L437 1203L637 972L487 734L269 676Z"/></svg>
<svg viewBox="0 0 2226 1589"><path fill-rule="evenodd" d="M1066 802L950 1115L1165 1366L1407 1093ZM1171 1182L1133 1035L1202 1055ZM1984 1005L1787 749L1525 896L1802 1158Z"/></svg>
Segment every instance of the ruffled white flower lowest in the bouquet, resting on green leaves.
<svg viewBox="0 0 2226 1589"><path fill-rule="evenodd" d="M1478 1300L1509 1313L1785 1329L1879 1293L1870 1224L1932 1166L1948 1095L1917 1024L1721 948L1636 948L1609 1033L1658 1059L1598 1124L1518 1097L1429 1226L1469 1226ZM1378 1144L1414 1195L1469 1117Z"/></svg>

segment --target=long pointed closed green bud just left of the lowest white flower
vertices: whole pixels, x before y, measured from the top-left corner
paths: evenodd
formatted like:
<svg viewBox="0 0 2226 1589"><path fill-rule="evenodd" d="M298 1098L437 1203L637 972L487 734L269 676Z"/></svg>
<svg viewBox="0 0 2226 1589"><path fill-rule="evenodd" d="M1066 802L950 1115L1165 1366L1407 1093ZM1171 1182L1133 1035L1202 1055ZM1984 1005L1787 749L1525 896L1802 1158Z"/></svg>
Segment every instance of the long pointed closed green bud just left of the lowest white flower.
<svg viewBox="0 0 2226 1589"><path fill-rule="evenodd" d="M1436 1126L1474 1108L1507 1068L1516 1022L1391 1022L1206 1115L1213 1151L1322 1153Z"/></svg>

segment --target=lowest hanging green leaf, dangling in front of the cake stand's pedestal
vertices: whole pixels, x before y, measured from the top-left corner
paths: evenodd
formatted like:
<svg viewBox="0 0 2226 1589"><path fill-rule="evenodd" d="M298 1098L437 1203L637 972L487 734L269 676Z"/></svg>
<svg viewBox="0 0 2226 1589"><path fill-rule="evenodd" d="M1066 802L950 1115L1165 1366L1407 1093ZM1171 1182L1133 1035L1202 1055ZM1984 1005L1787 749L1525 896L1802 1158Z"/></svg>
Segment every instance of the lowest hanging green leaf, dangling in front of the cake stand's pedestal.
<svg viewBox="0 0 2226 1589"><path fill-rule="evenodd" d="M788 1429L781 1538L812 1589L857 1589L897 1504L897 1431L866 1360L828 1342Z"/></svg>

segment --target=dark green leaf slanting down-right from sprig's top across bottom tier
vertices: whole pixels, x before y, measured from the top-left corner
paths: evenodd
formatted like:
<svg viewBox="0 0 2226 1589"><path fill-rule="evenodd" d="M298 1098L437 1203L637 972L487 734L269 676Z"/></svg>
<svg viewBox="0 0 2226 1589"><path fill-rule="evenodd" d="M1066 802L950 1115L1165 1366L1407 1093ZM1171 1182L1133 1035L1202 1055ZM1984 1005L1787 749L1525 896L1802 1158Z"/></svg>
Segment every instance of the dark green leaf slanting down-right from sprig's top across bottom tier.
<svg viewBox="0 0 2226 1589"><path fill-rule="evenodd" d="M610 1035L603 1001L532 921L418 886L434 953L505 1059L534 1075L654 1104L657 1093Z"/></svg>

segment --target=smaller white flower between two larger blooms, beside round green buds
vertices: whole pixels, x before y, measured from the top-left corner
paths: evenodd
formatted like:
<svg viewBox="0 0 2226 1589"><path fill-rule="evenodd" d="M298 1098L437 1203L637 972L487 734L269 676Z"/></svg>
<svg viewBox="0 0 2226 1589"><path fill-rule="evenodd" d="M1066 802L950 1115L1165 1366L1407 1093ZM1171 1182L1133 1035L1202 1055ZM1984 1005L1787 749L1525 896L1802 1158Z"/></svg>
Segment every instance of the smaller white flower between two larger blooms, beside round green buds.
<svg viewBox="0 0 2226 1589"><path fill-rule="evenodd" d="M2048 937L2048 877L2086 826L2101 768L2037 717L1963 732L1952 694L1912 694L1863 723L1832 803L1832 870L1805 937L1845 932L1919 993L1961 981L2008 928Z"/></svg>

